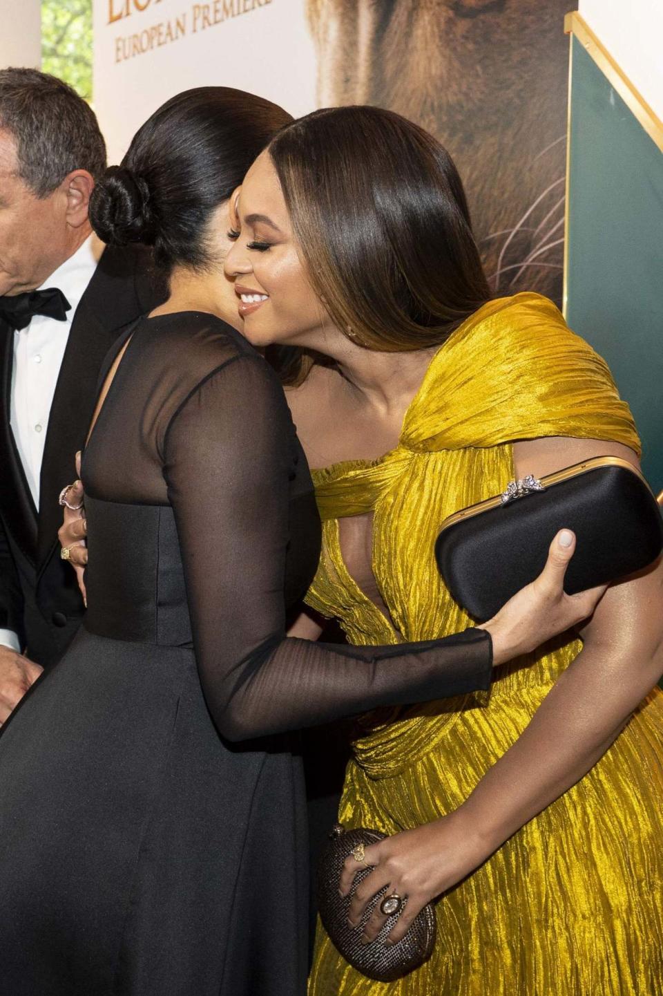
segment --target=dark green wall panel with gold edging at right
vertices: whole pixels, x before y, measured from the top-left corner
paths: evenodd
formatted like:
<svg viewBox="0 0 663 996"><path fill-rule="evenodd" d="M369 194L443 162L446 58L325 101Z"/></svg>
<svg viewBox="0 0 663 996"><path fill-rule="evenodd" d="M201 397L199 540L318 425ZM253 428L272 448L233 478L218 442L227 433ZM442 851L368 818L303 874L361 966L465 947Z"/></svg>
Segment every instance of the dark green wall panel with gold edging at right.
<svg viewBox="0 0 663 996"><path fill-rule="evenodd" d="M663 152L572 38L566 318L609 364L663 489Z"/></svg>

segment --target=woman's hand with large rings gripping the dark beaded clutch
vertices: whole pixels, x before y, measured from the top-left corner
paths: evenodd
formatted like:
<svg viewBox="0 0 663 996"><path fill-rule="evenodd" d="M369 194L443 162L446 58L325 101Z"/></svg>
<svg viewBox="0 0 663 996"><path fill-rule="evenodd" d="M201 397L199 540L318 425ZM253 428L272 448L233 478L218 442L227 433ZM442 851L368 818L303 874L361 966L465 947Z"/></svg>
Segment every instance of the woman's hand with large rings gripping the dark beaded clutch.
<svg viewBox="0 0 663 996"><path fill-rule="evenodd" d="M482 843L468 833L464 823L464 815L458 811L434 823L366 846L364 861L372 871L361 879L350 900L347 913L350 925L358 926L374 896L384 891L363 928L361 939L364 943L375 940L389 919L389 915L380 909L387 896L402 900L402 911L388 934L389 942L395 944L426 903L474 871L488 857ZM349 893L357 871L356 859L350 854L340 875L341 895Z"/></svg>

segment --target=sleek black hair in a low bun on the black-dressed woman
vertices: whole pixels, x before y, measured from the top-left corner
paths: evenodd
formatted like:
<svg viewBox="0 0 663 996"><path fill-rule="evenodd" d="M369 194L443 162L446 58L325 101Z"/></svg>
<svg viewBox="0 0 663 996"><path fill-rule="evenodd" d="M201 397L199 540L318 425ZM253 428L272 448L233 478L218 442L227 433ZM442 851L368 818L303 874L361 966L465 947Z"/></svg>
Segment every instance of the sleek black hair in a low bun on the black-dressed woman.
<svg viewBox="0 0 663 996"><path fill-rule="evenodd" d="M211 213L292 120L276 104L228 87L178 94L139 128L121 164L96 186L93 228L110 245L153 245L165 269L205 267Z"/></svg>

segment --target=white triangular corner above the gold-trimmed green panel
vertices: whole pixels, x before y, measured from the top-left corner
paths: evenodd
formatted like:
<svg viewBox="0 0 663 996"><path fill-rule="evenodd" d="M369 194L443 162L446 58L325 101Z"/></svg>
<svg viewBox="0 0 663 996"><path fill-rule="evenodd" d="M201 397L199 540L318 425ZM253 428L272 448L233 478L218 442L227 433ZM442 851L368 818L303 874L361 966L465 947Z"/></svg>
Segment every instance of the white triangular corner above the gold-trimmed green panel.
<svg viewBox="0 0 663 996"><path fill-rule="evenodd" d="M579 12L663 121L663 0L579 0Z"/></svg>

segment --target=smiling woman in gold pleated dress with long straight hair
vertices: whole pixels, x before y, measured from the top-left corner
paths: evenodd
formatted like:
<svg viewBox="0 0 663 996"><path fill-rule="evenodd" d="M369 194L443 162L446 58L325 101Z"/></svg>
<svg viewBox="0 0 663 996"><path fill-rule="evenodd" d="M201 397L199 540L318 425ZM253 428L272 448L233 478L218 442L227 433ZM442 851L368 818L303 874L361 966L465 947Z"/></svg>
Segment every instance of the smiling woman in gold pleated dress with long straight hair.
<svg viewBox="0 0 663 996"><path fill-rule="evenodd" d="M393 114L289 125L236 213L226 271L245 335L307 351L288 393L320 468L309 605L357 644L462 629L433 559L446 516L524 473L637 462L606 365L547 299L490 300L453 163ZM420 969L381 984L320 927L312 996L660 992L662 578L658 564L611 586L577 631L506 666L488 701L359 720L340 820L390 836L366 849L374 870L350 918L388 883L408 898L398 937L441 896L438 940ZM343 889L356 868L348 859Z"/></svg>

